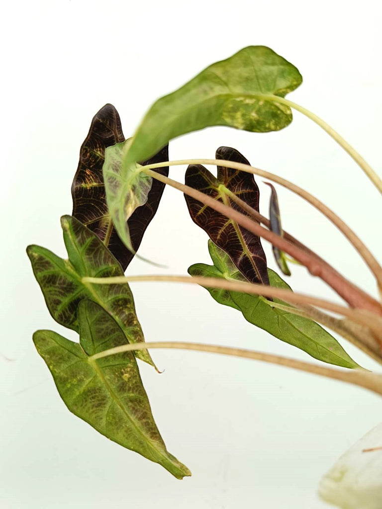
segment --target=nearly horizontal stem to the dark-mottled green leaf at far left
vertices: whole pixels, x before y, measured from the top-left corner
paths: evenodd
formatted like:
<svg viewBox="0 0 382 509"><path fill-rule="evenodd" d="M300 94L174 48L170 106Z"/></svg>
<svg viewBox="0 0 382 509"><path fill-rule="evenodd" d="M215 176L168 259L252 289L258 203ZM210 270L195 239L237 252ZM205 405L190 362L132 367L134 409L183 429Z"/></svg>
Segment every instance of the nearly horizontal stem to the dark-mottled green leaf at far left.
<svg viewBox="0 0 382 509"><path fill-rule="evenodd" d="M365 312L361 309L349 309L345 306L340 306L328 300L319 299L310 295L303 295L275 288L265 285L256 285L250 282L243 281L228 281L217 277L202 277L202 276L162 276L162 275L144 275L144 276L115 276L115 277L83 277L84 282L96 285L111 285L111 284L124 284L133 281L167 281L167 282L181 282L193 285L201 285L210 288L222 288L232 292L242 292L254 295L263 295L265 297L274 297L290 304L311 304L323 309L332 311L339 315L348 317L350 320L370 328L378 337L381 338L382 344L382 320L375 315ZM377 343L374 343L377 347ZM382 355L380 346L378 346L379 355Z"/></svg>

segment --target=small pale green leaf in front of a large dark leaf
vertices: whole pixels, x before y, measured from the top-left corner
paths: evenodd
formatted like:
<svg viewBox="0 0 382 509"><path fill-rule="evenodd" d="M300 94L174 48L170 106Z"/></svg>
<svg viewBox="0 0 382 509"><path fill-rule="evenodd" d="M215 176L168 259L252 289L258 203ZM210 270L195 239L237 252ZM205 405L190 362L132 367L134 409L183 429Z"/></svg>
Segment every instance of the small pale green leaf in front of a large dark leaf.
<svg viewBox="0 0 382 509"><path fill-rule="evenodd" d="M107 207L118 236L134 252L127 220L138 207L147 203L152 178L141 172L141 166L135 162L122 171L122 160L129 143L127 140L106 148L102 171Z"/></svg>

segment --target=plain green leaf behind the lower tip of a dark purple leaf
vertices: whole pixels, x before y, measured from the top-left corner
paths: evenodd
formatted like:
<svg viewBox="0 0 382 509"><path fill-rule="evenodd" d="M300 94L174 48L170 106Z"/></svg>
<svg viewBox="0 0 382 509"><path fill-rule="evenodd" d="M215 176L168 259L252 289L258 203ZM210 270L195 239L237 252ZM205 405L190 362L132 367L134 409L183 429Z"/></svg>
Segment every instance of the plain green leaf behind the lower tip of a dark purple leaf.
<svg viewBox="0 0 382 509"><path fill-rule="evenodd" d="M211 241L208 241L208 249L214 265L212 267L202 263L192 265L188 269L190 275L245 280L227 253ZM290 287L276 272L268 269L268 274L270 286L290 290ZM257 295L240 292L222 293L222 291L217 292L210 288L207 290L217 302L239 309L248 322L266 330L280 340L304 350L315 359L343 367L359 367L336 339L312 320L272 307L271 302L267 303L265 299ZM274 299L274 302L288 305L279 299Z"/></svg>

